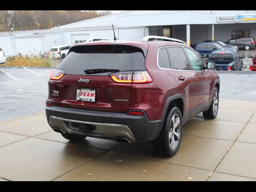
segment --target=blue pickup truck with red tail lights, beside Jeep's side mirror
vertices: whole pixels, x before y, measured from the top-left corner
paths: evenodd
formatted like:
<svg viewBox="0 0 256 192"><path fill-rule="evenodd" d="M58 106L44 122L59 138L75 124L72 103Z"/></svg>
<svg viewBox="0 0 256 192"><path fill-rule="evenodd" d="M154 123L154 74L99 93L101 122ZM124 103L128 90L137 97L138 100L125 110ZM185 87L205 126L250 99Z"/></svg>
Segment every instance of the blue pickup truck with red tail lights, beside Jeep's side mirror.
<svg viewBox="0 0 256 192"><path fill-rule="evenodd" d="M216 64L216 70L241 71L243 70L243 58L245 55L239 56L237 51L221 50L212 52L208 61Z"/></svg>

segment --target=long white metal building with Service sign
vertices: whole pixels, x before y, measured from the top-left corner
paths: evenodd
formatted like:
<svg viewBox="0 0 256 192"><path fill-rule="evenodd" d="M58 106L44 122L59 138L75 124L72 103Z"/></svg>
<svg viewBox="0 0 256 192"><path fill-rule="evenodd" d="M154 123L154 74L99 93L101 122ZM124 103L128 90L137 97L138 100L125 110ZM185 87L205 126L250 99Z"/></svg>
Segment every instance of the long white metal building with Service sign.
<svg viewBox="0 0 256 192"><path fill-rule="evenodd" d="M6 55L45 52L52 46L84 42L91 37L142 39L167 36L186 42L256 38L256 10L136 10L92 18L48 30L0 33Z"/></svg>

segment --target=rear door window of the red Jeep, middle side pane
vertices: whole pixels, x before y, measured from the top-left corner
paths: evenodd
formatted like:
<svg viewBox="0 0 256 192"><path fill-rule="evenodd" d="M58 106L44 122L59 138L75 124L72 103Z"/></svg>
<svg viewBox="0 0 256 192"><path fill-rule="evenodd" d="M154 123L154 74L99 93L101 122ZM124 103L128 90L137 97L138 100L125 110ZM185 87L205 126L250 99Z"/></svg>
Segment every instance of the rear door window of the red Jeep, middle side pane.
<svg viewBox="0 0 256 192"><path fill-rule="evenodd" d="M181 47L169 47L167 50L170 56L172 69L190 70L188 60Z"/></svg>

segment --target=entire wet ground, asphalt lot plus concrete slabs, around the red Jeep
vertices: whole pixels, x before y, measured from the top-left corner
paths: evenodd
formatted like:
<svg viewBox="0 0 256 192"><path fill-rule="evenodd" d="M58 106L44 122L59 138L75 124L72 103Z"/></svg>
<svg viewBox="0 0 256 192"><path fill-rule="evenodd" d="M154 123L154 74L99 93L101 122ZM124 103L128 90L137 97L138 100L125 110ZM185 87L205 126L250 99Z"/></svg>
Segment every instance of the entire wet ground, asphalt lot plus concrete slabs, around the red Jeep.
<svg viewBox="0 0 256 192"><path fill-rule="evenodd" d="M52 131L49 72L0 68L0 180L256 181L256 73L220 73L217 118L187 122L180 150L163 158L151 143L74 143Z"/></svg>

